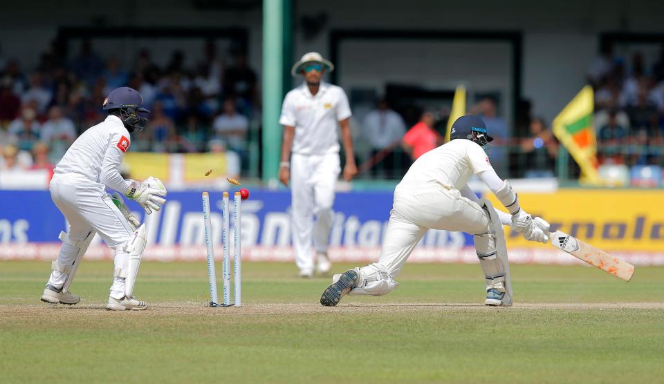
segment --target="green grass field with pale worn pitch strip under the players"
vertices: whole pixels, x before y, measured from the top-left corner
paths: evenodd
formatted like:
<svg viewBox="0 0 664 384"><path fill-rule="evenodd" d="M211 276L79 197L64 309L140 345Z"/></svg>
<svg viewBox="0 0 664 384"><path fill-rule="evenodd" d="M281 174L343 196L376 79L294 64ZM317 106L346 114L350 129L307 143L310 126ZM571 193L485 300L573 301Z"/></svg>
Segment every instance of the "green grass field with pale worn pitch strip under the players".
<svg viewBox="0 0 664 384"><path fill-rule="evenodd" d="M124 313L102 309L111 262L84 262L74 307L39 303L49 269L49 262L0 262L0 383L654 383L664 376L661 267L638 268L627 283L582 266L517 265L517 305L496 309L480 305L477 265L407 265L391 294L323 308L317 302L329 279L296 278L290 264L245 263L246 306L209 309L204 262L144 262L136 296L153 307Z"/></svg>

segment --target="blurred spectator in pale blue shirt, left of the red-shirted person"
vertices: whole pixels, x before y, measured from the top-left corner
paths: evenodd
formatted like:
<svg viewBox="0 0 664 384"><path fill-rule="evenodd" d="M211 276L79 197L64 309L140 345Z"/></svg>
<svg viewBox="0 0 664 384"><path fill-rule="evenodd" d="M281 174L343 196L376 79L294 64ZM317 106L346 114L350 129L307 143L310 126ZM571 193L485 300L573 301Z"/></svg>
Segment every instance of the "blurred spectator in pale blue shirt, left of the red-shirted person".
<svg viewBox="0 0 664 384"><path fill-rule="evenodd" d="M394 152L406 133L406 124L401 116L387 106L387 100L381 99L373 111L369 111L362 124L362 133L371 145L371 157L376 159L372 168L376 173L385 173L388 177L402 175L403 169L399 166L407 162L402 161L402 153ZM382 159L380 160L379 157Z"/></svg>

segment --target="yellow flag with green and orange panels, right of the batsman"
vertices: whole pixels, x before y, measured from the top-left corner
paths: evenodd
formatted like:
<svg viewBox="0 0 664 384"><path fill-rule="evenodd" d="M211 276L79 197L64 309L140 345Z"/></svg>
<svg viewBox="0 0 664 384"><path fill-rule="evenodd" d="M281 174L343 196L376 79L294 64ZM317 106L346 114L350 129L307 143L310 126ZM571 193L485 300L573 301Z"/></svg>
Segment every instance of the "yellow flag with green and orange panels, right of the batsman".
<svg viewBox="0 0 664 384"><path fill-rule="evenodd" d="M593 88L584 86L553 119L553 134L579 164L582 177L593 184L598 184L600 176L597 172L594 111Z"/></svg>

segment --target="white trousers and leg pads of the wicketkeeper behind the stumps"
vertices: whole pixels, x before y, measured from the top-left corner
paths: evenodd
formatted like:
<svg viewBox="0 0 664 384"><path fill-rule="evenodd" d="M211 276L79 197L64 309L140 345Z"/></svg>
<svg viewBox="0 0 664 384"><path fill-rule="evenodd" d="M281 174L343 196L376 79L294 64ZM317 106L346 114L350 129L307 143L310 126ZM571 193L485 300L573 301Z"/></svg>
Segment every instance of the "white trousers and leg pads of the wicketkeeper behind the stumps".
<svg viewBox="0 0 664 384"><path fill-rule="evenodd" d="M124 251L124 243L133 238L133 231L127 219L106 195L104 187L82 175L68 173L53 175L48 189L51 199L69 223L69 238L73 241L83 240L90 231L95 231L115 250L115 268L126 270L129 267L129 255ZM77 253L76 247L63 243L57 260L71 265ZM66 277L66 273L52 271L48 284L60 288ZM113 279L111 296L118 299L124 296L124 278Z"/></svg>

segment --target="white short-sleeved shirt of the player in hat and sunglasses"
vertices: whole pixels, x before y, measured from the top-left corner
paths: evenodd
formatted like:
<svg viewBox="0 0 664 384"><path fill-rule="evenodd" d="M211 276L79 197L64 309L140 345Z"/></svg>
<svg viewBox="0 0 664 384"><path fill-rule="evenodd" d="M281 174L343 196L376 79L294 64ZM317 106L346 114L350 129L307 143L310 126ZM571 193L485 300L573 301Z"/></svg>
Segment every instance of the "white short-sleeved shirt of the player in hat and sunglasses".
<svg viewBox="0 0 664 384"><path fill-rule="evenodd" d="M315 96L306 83L288 92L279 124L295 127L293 153L324 155L339 152L338 125L349 117L351 107L344 90L321 81Z"/></svg>

